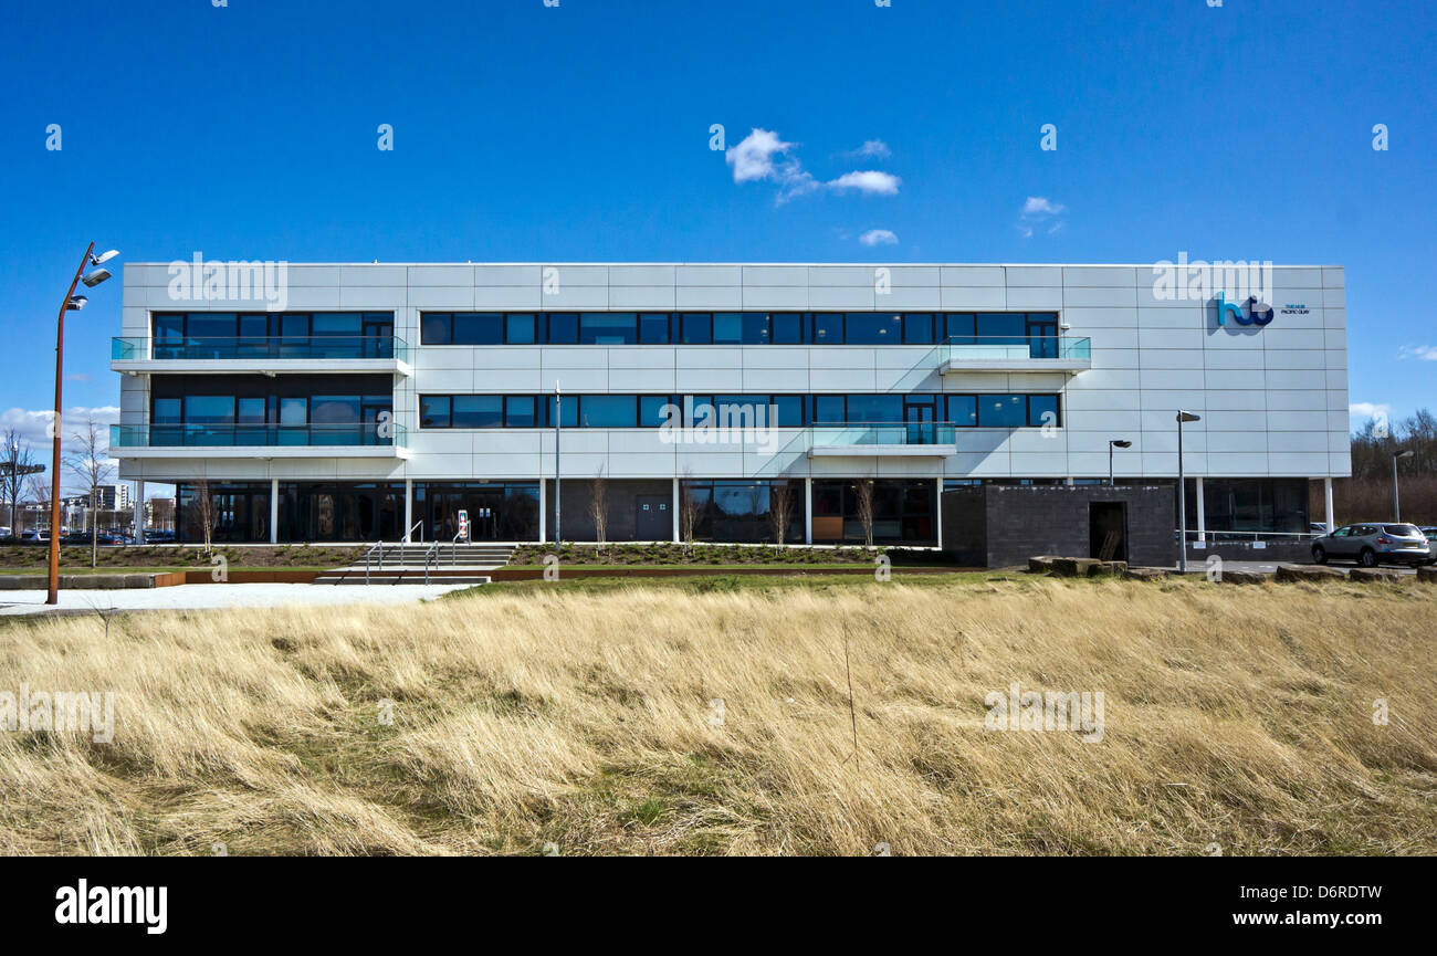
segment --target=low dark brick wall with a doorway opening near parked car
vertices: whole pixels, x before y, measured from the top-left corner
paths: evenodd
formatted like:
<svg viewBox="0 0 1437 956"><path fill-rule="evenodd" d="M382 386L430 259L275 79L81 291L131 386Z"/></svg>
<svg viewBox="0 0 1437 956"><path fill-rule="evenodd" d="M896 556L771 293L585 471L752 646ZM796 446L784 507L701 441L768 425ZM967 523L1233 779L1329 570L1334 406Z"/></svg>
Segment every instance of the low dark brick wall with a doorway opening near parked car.
<svg viewBox="0 0 1437 956"><path fill-rule="evenodd" d="M1134 565L1173 565L1177 499L1171 486L984 484L943 495L943 548L964 564L1002 568L1033 555L1089 553L1094 502L1127 505L1127 552ZM951 507L950 507L951 502Z"/></svg>

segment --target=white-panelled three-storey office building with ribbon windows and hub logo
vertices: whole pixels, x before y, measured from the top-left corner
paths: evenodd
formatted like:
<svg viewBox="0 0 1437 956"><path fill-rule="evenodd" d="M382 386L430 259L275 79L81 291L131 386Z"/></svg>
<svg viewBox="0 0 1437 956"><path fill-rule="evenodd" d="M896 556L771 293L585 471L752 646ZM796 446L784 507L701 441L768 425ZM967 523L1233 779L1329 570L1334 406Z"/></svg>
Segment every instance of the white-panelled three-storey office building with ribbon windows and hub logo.
<svg viewBox="0 0 1437 956"><path fill-rule="evenodd" d="M181 266L125 267L111 440L181 539L592 541L598 493L608 541L934 546L944 489L1109 454L1171 497L1178 410L1193 529L1303 532L1351 473L1341 267L1266 309L1132 265Z"/></svg>

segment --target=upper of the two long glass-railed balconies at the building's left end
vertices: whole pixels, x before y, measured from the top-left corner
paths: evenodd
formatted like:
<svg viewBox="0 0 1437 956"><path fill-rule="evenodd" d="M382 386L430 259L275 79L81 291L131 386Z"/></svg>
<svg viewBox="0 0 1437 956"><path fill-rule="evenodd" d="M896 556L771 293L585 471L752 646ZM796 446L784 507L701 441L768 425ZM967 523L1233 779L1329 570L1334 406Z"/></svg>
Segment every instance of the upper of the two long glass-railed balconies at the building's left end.
<svg viewBox="0 0 1437 956"><path fill-rule="evenodd" d="M118 372L412 372L410 346L395 335L119 336L109 358Z"/></svg>

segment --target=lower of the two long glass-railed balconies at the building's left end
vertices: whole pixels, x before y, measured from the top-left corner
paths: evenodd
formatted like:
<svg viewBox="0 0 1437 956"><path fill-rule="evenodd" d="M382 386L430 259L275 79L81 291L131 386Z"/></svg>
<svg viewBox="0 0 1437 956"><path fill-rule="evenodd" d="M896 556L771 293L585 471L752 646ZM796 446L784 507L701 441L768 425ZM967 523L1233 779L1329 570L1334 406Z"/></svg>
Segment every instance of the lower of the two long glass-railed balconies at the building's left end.
<svg viewBox="0 0 1437 956"><path fill-rule="evenodd" d="M407 459L408 431L392 421L345 424L111 426L116 459ZM198 454L195 454L198 453Z"/></svg>

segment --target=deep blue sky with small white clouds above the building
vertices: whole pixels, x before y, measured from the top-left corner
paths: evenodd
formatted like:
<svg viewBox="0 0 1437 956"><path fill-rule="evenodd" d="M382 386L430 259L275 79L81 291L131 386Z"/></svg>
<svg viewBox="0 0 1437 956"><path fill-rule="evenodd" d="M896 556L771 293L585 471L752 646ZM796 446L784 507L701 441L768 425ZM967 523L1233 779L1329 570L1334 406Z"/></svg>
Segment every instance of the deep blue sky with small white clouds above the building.
<svg viewBox="0 0 1437 956"><path fill-rule="evenodd" d="M1352 401L1437 405L1437 16L1207 3L13 4L4 424L52 404L91 239L121 262L1341 263ZM736 183L713 124L792 145ZM897 183L825 185L855 171ZM1029 197L1062 211L1025 220ZM119 302L70 313L68 408L118 403Z"/></svg>

